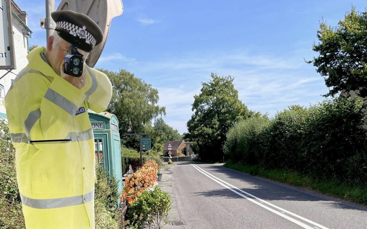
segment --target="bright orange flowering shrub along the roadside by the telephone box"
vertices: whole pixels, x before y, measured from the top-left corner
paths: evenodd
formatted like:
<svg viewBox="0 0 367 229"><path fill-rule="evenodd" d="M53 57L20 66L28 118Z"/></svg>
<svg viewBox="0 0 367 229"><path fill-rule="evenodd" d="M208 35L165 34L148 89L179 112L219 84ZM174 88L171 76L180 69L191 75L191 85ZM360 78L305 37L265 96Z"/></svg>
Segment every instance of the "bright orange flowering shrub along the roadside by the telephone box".
<svg viewBox="0 0 367 229"><path fill-rule="evenodd" d="M130 206L145 189L153 189L157 182L158 164L149 160L125 180L125 187L122 190L121 202L126 202Z"/></svg>

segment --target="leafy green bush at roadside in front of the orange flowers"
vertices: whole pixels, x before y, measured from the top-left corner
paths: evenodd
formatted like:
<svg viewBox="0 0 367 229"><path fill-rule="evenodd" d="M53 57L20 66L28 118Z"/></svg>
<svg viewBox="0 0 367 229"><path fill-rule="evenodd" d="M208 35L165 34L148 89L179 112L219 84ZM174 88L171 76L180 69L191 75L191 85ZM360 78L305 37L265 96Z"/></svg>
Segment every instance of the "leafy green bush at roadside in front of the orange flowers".
<svg viewBox="0 0 367 229"><path fill-rule="evenodd" d="M145 190L128 207L125 215L127 225L130 228L161 228L167 224L170 205L170 195L159 187L156 186L153 191Z"/></svg>

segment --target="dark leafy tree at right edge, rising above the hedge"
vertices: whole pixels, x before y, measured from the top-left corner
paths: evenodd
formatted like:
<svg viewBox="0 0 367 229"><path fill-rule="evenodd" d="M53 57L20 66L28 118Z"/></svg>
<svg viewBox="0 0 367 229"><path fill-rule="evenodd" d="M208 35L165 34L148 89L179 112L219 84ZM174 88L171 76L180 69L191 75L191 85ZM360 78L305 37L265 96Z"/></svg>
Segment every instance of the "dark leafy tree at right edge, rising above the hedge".
<svg viewBox="0 0 367 229"><path fill-rule="evenodd" d="M325 79L329 93L357 91L367 96L367 11L359 13L355 7L345 14L337 27L320 23L317 30L318 44L313 51L319 56L308 61L317 67L316 71Z"/></svg>

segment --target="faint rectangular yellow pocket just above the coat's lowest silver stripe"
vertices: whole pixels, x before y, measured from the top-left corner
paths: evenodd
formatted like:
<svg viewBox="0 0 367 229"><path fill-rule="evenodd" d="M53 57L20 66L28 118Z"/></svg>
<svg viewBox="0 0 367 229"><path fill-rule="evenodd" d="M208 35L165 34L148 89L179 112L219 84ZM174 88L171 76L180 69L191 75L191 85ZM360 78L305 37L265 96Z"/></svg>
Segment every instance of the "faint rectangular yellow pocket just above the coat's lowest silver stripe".
<svg viewBox="0 0 367 229"><path fill-rule="evenodd" d="M75 180L72 179L37 179L32 180L33 194L71 193Z"/></svg>

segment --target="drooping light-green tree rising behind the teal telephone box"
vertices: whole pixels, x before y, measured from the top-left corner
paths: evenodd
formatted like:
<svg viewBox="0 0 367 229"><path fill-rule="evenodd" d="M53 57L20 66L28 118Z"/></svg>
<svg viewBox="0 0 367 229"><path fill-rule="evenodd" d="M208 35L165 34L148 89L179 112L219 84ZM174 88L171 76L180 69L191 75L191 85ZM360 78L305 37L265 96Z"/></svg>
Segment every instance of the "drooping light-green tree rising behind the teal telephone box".
<svg viewBox="0 0 367 229"><path fill-rule="evenodd" d="M153 118L166 115L166 108L157 105L157 89L124 69L119 72L99 70L112 83L112 99L107 111L115 114L119 120L121 143L139 149L139 137L126 137L124 134L143 132Z"/></svg>

